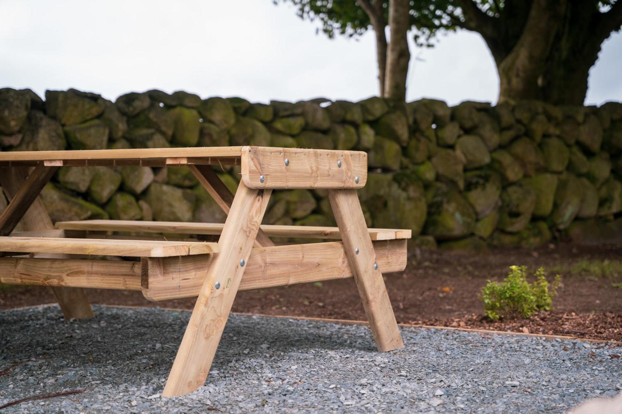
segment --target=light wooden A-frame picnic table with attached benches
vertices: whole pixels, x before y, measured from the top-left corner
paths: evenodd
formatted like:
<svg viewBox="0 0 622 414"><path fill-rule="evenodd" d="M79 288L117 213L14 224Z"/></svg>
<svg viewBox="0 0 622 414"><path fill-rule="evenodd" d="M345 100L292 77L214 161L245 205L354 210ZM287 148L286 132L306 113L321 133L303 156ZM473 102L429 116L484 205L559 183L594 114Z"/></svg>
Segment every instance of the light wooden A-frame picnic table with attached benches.
<svg viewBox="0 0 622 414"><path fill-rule="evenodd" d="M228 216L224 224L86 220L53 226L40 191L58 167L91 165L186 165ZM241 166L235 194L212 165ZM367 228L356 196L366 180L367 154L359 151L246 146L0 152L0 185L10 200L0 215L0 282L52 287L66 318L93 316L82 288L141 290L149 300L197 297L164 397L205 383L238 290L354 277L376 346L390 351L403 344L382 272L404 270L411 232ZM337 228L261 226L272 190L291 188L327 189ZM16 232L20 221L22 231ZM145 232L188 239L162 240ZM190 235L220 238L207 242ZM270 236L341 241L275 246Z"/></svg>

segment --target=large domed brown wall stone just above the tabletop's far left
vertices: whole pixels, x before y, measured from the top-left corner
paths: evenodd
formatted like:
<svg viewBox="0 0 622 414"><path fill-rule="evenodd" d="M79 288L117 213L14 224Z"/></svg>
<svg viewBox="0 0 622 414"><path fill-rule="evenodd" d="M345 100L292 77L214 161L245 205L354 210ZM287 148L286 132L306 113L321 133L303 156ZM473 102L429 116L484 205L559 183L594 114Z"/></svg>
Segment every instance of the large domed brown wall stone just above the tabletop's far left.
<svg viewBox="0 0 622 414"><path fill-rule="evenodd" d="M40 111L30 111L22 130L22 141L17 151L63 150L67 146L60 122Z"/></svg>

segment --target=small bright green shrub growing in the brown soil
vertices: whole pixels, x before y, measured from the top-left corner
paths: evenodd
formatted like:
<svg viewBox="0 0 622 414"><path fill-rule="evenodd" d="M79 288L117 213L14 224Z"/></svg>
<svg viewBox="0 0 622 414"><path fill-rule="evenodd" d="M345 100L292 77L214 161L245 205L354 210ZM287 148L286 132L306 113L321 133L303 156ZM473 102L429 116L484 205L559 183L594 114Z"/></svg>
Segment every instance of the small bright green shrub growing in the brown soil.
<svg viewBox="0 0 622 414"><path fill-rule="evenodd" d="M486 286L481 289L486 316L491 320L516 315L529 318L535 311L550 310L561 276L555 276L555 281L551 285L541 267L536 271L536 282L529 283L526 266L510 266L509 269L508 277L503 282L488 280Z"/></svg>

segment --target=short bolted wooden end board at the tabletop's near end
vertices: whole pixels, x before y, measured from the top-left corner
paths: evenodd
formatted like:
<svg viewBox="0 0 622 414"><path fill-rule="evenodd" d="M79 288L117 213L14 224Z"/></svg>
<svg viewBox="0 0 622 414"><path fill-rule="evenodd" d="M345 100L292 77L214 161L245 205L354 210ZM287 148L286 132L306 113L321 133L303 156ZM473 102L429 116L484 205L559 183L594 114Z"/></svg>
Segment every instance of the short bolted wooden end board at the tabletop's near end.
<svg viewBox="0 0 622 414"><path fill-rule="evenodd" d="M250 188L363 188L367 182L362 151L243 147L241 160Z"/></svg>

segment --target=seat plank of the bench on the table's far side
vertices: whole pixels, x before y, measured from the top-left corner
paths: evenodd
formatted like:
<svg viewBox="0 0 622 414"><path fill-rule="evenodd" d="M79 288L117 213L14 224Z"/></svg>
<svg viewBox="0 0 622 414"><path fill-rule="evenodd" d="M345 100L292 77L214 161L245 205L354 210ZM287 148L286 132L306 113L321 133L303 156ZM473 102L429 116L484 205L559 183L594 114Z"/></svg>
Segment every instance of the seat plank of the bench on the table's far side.
<svg viewBox="0 0 622 414"><path fill-rule="evenodd" d="M184 223L180 221L82 220L59 221L58 229L85 231L132 231L180 234L218 235L223 223ZM321 226L279 226L262 224L262 231L271 237L306 237L309 239L341 239L339 228ZM372 240L410 239L410 229L368 229Z"/></svg>

